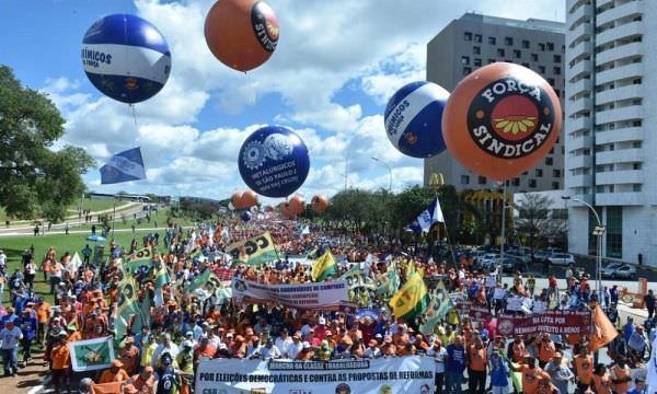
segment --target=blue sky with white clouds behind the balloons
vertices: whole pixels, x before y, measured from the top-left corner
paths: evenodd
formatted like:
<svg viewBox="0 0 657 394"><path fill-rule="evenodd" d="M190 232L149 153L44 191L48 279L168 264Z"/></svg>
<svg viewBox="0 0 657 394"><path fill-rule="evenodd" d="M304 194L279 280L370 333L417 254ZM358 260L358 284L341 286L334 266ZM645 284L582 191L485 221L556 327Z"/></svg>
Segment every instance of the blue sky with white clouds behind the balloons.
<svg viewBox="0 0 657 394"><path fill-rule="evenodd" d="M203 25L214 1L0 0L0 63L23 84L49 95L61 111L58 143L84 147L102 165L112 153L142 147L148 179L101 185L99 193L154 193L224 198L246 188L237 165L244 139L265 125L297 131L310 150L307 199L350 187L422 184L423 162L388 141L382 113L402 85L425 79L426 44L465 12L564 20L565 1L549 0L268 0L280 24L269 61L244 74L206 46ZM112 13L154 24L172 53L164 89L136 105L103 96L80 61L82 37ZM265 199L265 201L277 202Z"/></svg>

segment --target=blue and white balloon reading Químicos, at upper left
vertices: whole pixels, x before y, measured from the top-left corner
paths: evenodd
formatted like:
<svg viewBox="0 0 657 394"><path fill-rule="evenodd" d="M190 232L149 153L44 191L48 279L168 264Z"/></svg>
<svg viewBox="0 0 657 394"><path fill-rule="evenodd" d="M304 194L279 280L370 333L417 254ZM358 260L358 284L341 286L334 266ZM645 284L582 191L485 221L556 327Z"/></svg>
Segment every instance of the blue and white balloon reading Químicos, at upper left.
<svg viewBox="0 0 657 394"><path fill-rule="evenodd" d="M162 33L148 21L113 14L96 21L82 39L87 77L105 95L134 104L155 95L171 72Z"/></svg>

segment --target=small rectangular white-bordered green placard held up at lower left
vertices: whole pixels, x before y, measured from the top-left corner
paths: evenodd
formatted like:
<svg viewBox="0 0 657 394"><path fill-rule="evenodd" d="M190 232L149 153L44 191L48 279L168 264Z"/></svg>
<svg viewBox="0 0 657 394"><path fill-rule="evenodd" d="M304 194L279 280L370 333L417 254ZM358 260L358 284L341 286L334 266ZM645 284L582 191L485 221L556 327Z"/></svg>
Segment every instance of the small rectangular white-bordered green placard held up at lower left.
<svg viewBox="0 0 657 394"><path fill-rule="evenodd" d="M114 360L112 337L76 340L69 343L73 371L107 369Z"/></svg>

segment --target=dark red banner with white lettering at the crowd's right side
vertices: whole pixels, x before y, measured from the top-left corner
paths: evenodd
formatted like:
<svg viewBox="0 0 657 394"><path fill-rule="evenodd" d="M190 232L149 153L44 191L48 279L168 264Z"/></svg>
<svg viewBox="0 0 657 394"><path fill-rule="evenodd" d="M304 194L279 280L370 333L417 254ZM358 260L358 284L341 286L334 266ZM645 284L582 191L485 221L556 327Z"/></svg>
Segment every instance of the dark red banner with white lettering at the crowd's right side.
<svg viewBox="0 0 657 394"><path fill-rule="evenodd" d="M530 315L500 314L497 316L499 335L590 334L590 311L545 311Z"/></svg>

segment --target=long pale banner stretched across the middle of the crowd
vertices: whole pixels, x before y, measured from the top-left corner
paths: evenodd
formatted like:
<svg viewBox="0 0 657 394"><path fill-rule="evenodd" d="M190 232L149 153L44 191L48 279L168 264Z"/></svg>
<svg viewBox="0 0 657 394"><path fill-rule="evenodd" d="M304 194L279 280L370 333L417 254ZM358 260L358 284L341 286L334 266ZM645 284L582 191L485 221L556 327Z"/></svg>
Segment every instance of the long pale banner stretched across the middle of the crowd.
<svg viewBox="0 0 657 394"><path fill-rule="evenodd" d="M301 310L338 310L348 302L346 280L321 283L265 285L234 279L233 299L238 302L278 303Z"/></svg>

